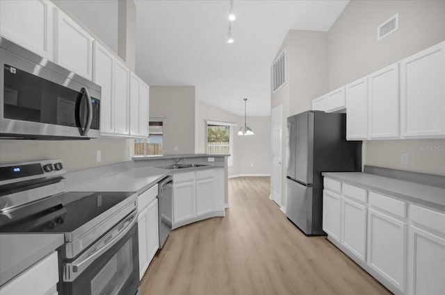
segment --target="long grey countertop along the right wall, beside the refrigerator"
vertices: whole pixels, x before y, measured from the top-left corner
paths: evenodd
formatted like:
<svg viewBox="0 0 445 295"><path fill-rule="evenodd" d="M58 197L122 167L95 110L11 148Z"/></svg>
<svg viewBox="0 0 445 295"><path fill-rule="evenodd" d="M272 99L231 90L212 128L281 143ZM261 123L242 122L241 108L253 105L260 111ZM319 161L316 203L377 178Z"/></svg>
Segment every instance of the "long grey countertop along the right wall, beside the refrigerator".
<svg viewBox="0 0 445 295"><path fill-rule="evenodd" d="M445 189L362 172L323 172L323 176L445 212Z"/></svg>

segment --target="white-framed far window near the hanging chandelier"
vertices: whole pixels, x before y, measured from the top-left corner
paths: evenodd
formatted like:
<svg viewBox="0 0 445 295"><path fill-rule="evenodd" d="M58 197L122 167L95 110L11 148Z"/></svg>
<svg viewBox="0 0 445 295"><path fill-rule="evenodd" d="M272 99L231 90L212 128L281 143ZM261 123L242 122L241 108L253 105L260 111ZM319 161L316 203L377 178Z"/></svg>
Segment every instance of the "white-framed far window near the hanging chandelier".
<svg viewBox="0 0 445 295"><path fill-rule="evenodd" d="M236 124L207 121L207 153L229 153L228 165L232 167L234 155L234 128Z"/></svg>

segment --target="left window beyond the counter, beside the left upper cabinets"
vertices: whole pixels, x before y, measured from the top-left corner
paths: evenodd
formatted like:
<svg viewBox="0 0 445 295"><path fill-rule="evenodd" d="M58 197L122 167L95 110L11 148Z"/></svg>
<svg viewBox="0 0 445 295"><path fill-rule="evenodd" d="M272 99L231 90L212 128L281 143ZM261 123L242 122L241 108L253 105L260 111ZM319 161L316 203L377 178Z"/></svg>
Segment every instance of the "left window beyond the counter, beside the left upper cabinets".
<svg viewBox="0 0 445 295"><path fill-rule="evenodd" d="M162 155L162 121L152 121L148 125L148 139L136 138L134 140L134 155Z"/></svg>

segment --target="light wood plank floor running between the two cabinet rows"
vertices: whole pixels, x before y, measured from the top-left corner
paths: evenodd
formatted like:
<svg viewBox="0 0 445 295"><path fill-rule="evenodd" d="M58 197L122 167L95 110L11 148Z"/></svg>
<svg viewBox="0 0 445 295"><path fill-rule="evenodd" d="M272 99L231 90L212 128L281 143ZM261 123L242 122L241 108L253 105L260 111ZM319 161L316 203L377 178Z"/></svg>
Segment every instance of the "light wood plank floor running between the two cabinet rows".
<svg viewBox="0 0 445 295"><path fill-rule="evenodd" d="M230 179L226 217L172 230L141 294L391 294L325 237L291 224L269 182Z"/></svg>

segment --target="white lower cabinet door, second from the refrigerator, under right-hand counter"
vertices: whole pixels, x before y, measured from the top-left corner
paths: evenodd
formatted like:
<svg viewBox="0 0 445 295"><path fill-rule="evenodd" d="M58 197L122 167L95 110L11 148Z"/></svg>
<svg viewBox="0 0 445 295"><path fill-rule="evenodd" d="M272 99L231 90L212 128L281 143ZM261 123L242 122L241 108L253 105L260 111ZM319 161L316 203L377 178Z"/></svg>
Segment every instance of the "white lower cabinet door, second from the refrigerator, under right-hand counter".
<svg viewBox="0 0 445 295"><path fill-rule="evenodd" d="M366 206L343 197L341 244L366 261Z"/></svg>

